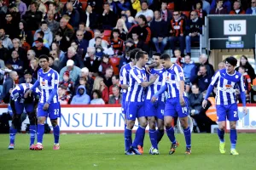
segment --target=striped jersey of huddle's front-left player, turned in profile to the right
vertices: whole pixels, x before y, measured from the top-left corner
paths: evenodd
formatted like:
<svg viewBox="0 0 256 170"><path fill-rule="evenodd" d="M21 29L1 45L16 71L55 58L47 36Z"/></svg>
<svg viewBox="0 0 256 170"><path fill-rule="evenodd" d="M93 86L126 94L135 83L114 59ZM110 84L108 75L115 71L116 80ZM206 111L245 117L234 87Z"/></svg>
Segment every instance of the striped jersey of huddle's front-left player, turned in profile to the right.
<svg viewBox="0 0 256 170"><path fill-rule="evenodd" d="M145 68L140 69L137 66L132 67L129 77L129 88L125 101L143 102L145 89L140 84L147 81L148 78Z"/></svg>

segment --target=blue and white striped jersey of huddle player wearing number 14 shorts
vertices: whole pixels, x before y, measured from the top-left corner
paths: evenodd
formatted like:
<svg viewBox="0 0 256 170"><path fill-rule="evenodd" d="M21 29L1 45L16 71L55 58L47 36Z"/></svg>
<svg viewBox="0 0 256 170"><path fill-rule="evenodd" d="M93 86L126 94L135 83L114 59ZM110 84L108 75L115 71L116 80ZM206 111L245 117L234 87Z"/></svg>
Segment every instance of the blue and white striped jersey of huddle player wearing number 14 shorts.
<svg viewBox="0 0 256 170"><path fill-rule="evenodd" d="M179 97L179 82L184 80L185 77L181 66L173 64L171 68L166 70L163 84L166 83L168 98ZM186 96L186 93L183 93L183 96Z"/></svg>

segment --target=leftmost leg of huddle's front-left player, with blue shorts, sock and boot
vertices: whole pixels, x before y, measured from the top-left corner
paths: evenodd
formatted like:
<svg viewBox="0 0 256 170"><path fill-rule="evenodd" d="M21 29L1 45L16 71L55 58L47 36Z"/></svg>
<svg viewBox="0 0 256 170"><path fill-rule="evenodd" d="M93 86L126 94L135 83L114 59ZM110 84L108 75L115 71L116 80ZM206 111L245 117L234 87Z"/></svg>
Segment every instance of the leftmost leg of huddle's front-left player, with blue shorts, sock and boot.
<svg viewBox="0 0 256 170"><path fill-rule="evenodd" d="M126 128L125 128L125 155L134 155L131 150L132 144L132 128L134 127L136 116L137 116L137 103L129 102L126 107Z"/></svg>

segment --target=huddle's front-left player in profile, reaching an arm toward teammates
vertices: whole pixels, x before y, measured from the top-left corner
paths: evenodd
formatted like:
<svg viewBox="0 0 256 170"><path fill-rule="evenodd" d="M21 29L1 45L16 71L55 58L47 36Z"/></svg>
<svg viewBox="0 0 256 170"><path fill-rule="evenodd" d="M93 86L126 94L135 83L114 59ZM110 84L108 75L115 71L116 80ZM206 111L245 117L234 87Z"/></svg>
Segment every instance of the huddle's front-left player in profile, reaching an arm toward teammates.
<svg viewBox="0 0 256 170"><path fill-rule="evenodd" d="M148 54L144 51L138 51L135 55L136 65L130 71L129 88L125 101L128 103L126 111L127 126L125 128L125 148L126 155L141 155L137 149L137 145L143 141L147 120L144 111L144 90L154 83L157 75L154 75L148 81L146 70L143 66L148 62ZM136 118L139 122L135 139L132 143L131 130L134 127Z"/></svg>

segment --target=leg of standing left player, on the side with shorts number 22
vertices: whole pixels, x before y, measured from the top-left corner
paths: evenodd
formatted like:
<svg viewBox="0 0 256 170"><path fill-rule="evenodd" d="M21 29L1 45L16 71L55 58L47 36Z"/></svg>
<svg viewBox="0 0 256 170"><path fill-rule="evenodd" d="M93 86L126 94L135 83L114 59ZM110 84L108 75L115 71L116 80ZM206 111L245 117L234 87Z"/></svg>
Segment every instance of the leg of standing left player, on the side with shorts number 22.
<svg viewBox="0 0 256 170"><path fill-rule="evenodd" d="M61 105L59 103L51 103L49 105L49 119L53 127L55 143L53 146L54 150L60 149L60 127L58 125L58 118L61 116Z"/></svg>

